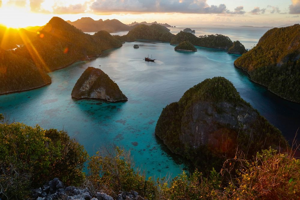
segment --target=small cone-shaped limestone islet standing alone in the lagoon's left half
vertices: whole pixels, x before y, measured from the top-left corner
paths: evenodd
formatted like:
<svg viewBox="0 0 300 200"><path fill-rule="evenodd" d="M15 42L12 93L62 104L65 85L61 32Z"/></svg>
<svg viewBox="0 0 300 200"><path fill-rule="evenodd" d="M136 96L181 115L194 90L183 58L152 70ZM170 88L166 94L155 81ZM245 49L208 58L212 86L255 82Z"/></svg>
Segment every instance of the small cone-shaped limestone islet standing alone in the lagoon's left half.
<svg viewBox="0 0 300 200"><path fill-rule="evenodd" d="M128 100L119 86L101 69L88 67L77 80L72 97L102 99L109 102Z"/></svg>

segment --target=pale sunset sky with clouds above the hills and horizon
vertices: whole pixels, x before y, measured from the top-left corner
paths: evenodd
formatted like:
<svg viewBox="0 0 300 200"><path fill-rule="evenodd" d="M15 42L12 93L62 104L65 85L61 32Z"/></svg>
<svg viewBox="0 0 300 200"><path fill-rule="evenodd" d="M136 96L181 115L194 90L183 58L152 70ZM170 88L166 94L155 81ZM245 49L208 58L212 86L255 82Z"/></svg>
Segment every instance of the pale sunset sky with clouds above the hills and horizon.
<svg viewBox="0 0 300 200"><path fill-rule="evenodd" d="M44 25L53 16L170 25L280 26L300 23L300 0L0 0L0 24Z"/></svg>

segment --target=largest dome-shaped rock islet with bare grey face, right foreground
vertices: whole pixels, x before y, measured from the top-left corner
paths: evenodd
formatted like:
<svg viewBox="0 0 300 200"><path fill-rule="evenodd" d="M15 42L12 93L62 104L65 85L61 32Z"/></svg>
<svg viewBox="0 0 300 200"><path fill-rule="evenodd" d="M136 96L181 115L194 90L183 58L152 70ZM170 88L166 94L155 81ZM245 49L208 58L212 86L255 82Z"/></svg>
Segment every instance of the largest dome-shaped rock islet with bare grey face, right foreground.
<svg viewBox="0 0 300 200"><path fill-rule="evenodd" d="M285 145L280 131L223 77L205 79L166 106L155 134L198 168L220 167L224 159L234 157L237 146L251 157L269 146Z"/></svg>

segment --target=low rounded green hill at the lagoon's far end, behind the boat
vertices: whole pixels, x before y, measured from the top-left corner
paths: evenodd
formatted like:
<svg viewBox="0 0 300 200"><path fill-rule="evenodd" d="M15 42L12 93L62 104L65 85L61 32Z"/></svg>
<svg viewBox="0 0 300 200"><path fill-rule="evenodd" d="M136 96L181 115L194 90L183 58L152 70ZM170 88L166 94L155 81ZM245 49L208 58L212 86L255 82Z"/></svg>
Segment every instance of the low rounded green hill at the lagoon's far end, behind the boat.
<svg viewBox="0 0 300 200"><path fill-rule="evenodd" d="M151 26L140 24L136 25L136 27L129 31L127 35L122 37L125 38L126 41L132 41L128 40L129 38L136 38L170 42L173 36L174 35L170 33L169 29L164 26L158 24L152 24Z"/></svg>

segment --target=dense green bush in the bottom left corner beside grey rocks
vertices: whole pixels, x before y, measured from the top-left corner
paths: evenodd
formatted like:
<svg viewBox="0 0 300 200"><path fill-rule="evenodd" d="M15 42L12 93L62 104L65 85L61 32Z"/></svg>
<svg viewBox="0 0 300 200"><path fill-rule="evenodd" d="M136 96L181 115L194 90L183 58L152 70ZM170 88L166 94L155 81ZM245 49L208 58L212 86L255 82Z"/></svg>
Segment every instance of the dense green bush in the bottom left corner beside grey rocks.
<svg viewBox="0 0 300 200"><path fill-rule="evenodd" d="M30 189L55 177L66 184L82 183L87 153L66 132L0 118L0 198L26 199Z"/></svg>

